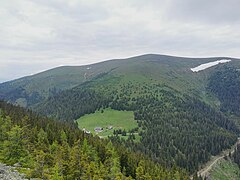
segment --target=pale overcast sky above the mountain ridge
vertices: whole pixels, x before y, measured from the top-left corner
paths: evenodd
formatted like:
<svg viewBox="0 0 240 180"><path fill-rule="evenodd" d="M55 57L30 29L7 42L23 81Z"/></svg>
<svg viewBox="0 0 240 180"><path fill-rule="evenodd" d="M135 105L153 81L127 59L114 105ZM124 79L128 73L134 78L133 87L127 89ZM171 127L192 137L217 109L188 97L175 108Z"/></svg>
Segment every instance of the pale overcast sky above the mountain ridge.
<svg viewBox="0 0 240 180"><path fill-rule="evenodd" d="M0 82L157 53L240 57L239 0L1 0Z"/></svg>

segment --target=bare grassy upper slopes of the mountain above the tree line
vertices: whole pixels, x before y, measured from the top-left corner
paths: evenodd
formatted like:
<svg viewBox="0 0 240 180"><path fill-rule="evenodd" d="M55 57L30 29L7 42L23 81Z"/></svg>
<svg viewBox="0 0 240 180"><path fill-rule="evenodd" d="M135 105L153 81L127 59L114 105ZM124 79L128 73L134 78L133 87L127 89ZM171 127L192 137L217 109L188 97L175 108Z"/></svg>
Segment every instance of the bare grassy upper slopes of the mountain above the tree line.
<svg viewBox="0 0 240 180"><path fill-rule="evenodd" d="M161 82L181 91L204 95L204 73L190 68L222 58L181 58L164 55L143 55L110 60L87 66L63 66L33 76L0 84L0 98L32 107L49 96L89 82L104 73L120 77L122 82Z"/></svg>

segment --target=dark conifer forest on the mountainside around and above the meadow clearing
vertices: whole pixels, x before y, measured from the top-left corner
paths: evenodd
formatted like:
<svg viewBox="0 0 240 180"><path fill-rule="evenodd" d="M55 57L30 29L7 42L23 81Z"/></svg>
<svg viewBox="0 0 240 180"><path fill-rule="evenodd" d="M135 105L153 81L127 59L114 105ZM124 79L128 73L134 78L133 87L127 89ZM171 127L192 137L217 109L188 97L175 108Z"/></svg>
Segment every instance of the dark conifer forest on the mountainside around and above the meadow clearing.
<svg viewBox="0 0 240 180"><path fill-rule="evenodd" d="M190 172L237 140L236 125L199 99L161 84L111 79L109 86L101 85L105 78L53 96L36 110L68 121L100 108L134 111L141 140L132 148Z"/></svg>

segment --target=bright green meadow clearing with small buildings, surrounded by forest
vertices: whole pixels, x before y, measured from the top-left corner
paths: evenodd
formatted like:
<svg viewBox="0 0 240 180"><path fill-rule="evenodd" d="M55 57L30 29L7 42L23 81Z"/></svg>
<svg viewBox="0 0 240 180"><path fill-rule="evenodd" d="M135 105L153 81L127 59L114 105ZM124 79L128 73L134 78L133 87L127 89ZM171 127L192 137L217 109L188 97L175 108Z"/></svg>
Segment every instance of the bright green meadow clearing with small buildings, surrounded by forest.
<svg viewBox="0 0 240 180"><path fill-rule="evenodd" d="M87 114L76 120L80 129L86 129L100 137L113 135L114 130L131 130L138 127L137 121L134 120L132 111L117 111L113 109L104 109L103 112L96 111L94 114ZM108 129L112 126L112 129ZM103 131L94 132L95 127L102 127Z"/></svg>

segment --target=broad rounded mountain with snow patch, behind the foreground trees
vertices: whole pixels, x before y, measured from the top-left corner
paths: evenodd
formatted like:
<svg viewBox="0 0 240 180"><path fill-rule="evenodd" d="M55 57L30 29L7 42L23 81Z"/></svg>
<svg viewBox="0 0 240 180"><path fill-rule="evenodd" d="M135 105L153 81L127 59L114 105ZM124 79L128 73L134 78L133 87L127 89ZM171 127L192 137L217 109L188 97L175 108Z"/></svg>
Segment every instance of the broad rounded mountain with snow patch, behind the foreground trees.
<svg viewBox="0 0 240 180"><path fill-rule="evenodd" d="M231 61L191 70L223 59ZM238 59L227 57L149 54L59 67L6 82L0 85L0 98L71 123L87 114L98 119L104 112L128 111L134 114L137 127L125 133L120 126L114 127L113 142L140 151L164 167L194 173L237 141L239 67Z"/></svg>

